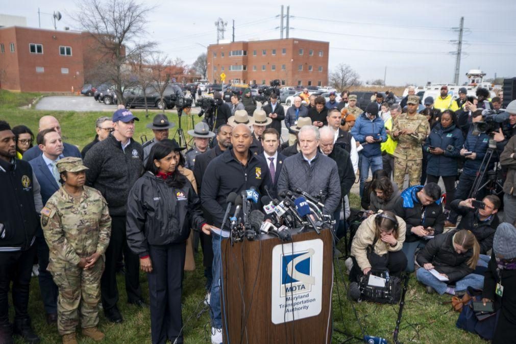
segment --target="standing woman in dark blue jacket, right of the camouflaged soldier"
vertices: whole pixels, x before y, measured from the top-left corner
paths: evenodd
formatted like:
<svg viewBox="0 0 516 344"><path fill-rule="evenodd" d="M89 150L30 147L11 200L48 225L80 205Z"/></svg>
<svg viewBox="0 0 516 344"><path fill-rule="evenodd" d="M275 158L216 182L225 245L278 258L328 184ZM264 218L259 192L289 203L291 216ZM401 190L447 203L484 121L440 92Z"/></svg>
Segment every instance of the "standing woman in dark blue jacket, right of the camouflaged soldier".
<svg viewBox="0 0 516 344"><path fill-rule="evenodd" d="M463 144L464 139L461 130L457 127L455 112L444 110L440 123L432 128L423 145L423 150L430 153L426 169L427 181L438 183L439 178L443 178L448 210L450 201L455 199L455 179Z"/></svg>

